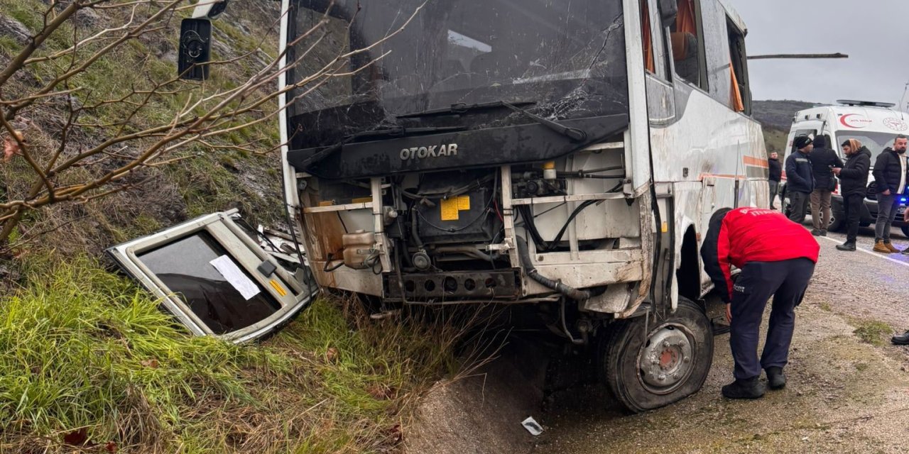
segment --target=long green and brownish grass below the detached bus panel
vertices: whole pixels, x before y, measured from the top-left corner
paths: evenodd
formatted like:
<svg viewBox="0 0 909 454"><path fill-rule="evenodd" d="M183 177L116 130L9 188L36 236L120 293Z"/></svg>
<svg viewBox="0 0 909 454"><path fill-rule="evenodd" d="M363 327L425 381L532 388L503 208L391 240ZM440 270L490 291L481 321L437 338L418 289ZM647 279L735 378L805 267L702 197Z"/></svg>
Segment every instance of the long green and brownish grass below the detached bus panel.
<svg viewBox="0 0 909 454"><path fill-rule="evenodd" d="M82 259L0 300L0 452L376 452L458 369L445 323L369 321L317 301L264 344L193 337ZM31 267L31 269L30 269ZM72 440L71 440L72 441Z"/></svg>

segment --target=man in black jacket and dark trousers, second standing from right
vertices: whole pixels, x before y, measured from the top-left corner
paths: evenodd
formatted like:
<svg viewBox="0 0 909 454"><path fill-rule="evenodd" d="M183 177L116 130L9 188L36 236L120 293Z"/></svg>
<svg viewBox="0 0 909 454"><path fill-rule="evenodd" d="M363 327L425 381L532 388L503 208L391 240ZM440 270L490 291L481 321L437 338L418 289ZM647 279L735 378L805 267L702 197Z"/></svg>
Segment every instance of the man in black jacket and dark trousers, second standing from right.
<svg viewBox="0 0 909 454"><path fill-rule="evenodd" d="M858 222L862 217L862 203L868 187L868 169L871 167L871 152L861 142L849 139L843 143L846 162L842 169L834 167L834 175L840 177L840 193L843 194L843 210L846 220L846 242L837 244L840 251L855 251Z"/></svg>

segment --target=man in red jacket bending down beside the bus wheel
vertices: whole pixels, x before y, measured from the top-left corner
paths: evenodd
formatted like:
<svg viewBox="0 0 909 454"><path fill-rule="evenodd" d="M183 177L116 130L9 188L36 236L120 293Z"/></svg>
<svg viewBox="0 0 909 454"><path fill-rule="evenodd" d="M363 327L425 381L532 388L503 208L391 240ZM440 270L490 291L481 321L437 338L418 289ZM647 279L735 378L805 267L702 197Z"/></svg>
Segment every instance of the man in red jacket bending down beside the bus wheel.
<svg viewBox="0 0 909 454"><path fill-rule="evenodd" d="M764 386L758 380L762 368L771 389L785 386L783 368L793 338L795 306L802 302L819 251L811 233L780 212L724 208L710 218L701 257L704 271L726 303L735 360L735 381L723 387L725 397L763 396ZM732 266L742 271L735 281ZM759 361L757 338L771 296L774 305Z"/></svg>

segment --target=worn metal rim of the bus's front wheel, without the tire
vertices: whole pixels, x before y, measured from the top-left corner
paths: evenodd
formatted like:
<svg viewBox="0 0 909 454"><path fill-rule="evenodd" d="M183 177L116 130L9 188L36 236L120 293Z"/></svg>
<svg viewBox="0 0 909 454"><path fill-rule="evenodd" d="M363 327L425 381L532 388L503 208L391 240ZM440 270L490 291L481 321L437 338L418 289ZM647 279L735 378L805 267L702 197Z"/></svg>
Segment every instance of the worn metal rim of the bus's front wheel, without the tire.
<svg viewBox="0 0 909 454"><path fill-rule="evenodd" d="M638 352L638 377L654 394L669 394L684 385L694 371L694 334L682 325L667 324L651 331Z"/></svg>

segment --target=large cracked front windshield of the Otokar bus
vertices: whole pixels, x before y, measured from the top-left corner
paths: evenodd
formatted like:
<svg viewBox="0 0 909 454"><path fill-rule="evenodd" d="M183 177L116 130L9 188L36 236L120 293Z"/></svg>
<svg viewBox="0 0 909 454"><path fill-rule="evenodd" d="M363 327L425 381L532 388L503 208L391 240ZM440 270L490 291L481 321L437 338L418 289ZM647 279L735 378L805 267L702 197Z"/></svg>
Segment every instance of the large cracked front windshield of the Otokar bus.
<svg viewBox="0 0 909 454"><path fill-rule="evenodd" d="M287 43L297 149L436 126L399 116L453 104L533 104L553 119L628 110L618 0L292 0ZM486 127L466 116L459 126Z"/></svg>

